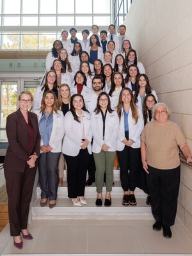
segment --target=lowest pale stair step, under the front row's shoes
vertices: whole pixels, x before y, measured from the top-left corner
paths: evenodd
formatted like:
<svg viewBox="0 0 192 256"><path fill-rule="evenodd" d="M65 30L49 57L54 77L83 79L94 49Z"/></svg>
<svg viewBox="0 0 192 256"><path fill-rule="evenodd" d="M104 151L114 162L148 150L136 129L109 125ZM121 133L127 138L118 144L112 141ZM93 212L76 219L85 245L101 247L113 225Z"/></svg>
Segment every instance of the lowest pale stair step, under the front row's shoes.
<svg viewBox="0 0 192 256"><path fill-rule="evenodd" d="M40 198L37 198L33 204L31 215L33 220L152 217L150 206L145 203L145 198L137 198L137 203L135 206L124 206L122 198L112 198L110 207L97 207L95 198L87 198L87 205L78 207L72 204L70 198L58 198L56 207L49 209L48 204L45 207L40 207Z"/></svg>

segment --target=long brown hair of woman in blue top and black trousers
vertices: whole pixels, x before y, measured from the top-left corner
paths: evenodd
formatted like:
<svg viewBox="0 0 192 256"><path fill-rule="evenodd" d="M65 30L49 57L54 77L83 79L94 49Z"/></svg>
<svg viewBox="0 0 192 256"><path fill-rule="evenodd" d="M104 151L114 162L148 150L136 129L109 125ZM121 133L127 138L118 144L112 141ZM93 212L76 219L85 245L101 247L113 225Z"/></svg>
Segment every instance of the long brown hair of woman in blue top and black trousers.
<svg viewBox="0 0 192 256"><path fill-rule="evenodd" d="M129 89L127 87L124 87L121 90L120 95L119 95L118 105L116 107L116 112L117 112L118 118L120 120L121 116L122 116L122 109L124 108L124 102L122 100L122 94L125 91L128 91L131 95L130 108L131 108L131 111L132 111L132 119L134 119L135 124L136 124L138 122L139 115L138 115L138 108L136 107L136 104L134 103L134 96L133 96L133 93L132 93L131 89Z"/></svg>

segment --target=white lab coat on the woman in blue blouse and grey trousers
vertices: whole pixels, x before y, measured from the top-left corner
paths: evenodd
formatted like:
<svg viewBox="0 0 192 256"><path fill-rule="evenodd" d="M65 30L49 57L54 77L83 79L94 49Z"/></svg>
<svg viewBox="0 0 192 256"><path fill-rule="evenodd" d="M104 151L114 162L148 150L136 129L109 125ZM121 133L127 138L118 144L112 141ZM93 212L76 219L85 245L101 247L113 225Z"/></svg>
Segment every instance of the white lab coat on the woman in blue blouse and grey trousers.
<svg viewBox="0 0 192 256"><path fill-rule="evenodd" d="M51 131L51 137L49 140L49 145L52 147L51 152L52 153L58 153L61 152L61 145L63 136L65 134L64 129L64 116L63 112L61 110L58 110L56 112L53 112L53 124L52 124L52 131ZM40 122L40 118L42 117L42 113L40 111L35 111L35 114L38 118L38 124ZM40 145L44 145L44 142L41 138ZM40 151L42 153L42 150Z"/></svg>

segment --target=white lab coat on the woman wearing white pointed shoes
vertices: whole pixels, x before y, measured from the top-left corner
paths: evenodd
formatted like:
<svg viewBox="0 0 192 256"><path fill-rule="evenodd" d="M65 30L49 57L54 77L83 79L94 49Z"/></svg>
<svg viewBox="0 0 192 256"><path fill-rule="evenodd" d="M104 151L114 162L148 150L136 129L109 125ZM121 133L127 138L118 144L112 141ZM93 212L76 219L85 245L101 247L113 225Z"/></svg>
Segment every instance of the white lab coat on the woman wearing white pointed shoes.
<svg viewBox="0 0 192 256"><path fill-rule="evenodd" d="M68 111L64 118L65 137L63 139L62 152L67 156L77 156L81 150L83 125L74 120L71 111ZM90 127L90 113L83 111L84 136L90 141L88 152L92 154L92 131Z"/></svg>

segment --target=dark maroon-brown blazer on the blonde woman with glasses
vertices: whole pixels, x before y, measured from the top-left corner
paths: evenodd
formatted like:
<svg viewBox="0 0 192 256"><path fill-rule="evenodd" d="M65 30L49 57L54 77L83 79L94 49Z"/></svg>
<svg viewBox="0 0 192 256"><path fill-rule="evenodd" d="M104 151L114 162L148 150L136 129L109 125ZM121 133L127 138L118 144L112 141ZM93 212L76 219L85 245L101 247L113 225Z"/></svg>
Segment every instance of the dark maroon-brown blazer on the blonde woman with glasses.
<svg viewBox="0 0 192 256"><path fill-rule="evenodd" d="M33 153L40 154L40 133L35 113L29 112L29 118L33 125L34 145ZM8 149L4 158L4 170L12 172L24 172L26 161L29 160L29 132L24 116L18 109L6 118L6 134ZM35 168L37 166L37 161Z"/></svg>

